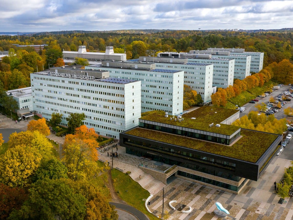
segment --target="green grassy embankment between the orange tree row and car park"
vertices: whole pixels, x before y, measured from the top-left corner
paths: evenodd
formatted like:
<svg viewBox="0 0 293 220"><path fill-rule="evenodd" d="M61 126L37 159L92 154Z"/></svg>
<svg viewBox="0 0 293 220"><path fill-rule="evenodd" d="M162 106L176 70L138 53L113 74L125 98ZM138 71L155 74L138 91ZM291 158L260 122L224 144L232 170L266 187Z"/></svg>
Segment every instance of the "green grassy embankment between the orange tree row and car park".
<svg viewBox="0 0 293 220"><path fill-rule="evenodd" d="M257 96L268 91L268 89L270 89L270 86L275 85L275 84L276 84L275 82L269 81L269 82L265 83L262 87L255 87L251 90L241 92L238 96L235 96L235 97L229 99L225 108L226 109L235 109L236 108L235 105L238 105L239 107L243 106L251 99L255 99Z"/></svg>

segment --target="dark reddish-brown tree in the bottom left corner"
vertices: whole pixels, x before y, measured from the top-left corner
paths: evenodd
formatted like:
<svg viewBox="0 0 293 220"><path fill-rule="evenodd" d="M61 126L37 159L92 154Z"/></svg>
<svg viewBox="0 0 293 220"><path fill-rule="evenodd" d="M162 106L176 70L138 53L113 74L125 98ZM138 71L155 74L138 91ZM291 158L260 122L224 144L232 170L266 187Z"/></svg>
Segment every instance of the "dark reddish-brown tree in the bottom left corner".
<svg viewBox="0 0 293 220"><path fill-rule="evenodd" d="M26 198L24 189L0 183L0 219L7 219L11 211L20 209Z"/></svg>

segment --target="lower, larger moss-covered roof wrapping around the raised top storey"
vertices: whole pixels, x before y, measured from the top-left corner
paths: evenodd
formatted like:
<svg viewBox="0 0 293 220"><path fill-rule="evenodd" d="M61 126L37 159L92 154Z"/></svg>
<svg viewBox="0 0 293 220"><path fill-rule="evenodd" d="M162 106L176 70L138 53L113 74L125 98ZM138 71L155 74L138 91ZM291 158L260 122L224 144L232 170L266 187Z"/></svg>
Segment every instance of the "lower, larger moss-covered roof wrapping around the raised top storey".
<svg viewBox="0 0 293 220"><path fill-rule="evenodd" d="M256 163L261 155L265 153L272 142L278 137L276 134L242 129L241 135L243 137L241 137L232 146L228 146L144 128L134 128L125 133L154 141L160 141L207 153L244 160L251 163Z"/></svg>

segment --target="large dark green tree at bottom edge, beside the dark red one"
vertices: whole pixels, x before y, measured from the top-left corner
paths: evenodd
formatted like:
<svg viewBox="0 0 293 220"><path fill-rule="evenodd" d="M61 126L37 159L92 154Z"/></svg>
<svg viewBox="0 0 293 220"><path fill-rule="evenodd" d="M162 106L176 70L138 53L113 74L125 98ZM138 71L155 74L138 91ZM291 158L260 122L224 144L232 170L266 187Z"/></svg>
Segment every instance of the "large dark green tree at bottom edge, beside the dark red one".
<svg viewBox="0 0 293 220"><path fill-rule="evenodd" d="M45 178L32 184L20 210L8 219L80 219L86 215L86 198L75 193L64 179Z"/></svg>

